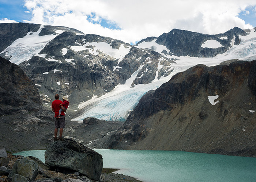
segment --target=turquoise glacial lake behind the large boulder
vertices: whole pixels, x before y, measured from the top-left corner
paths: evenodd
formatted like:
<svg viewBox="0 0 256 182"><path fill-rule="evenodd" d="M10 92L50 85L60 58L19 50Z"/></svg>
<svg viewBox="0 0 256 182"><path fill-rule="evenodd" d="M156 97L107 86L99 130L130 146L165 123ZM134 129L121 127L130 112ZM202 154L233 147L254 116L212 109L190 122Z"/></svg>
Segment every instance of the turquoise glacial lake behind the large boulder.
<svg viewBox="0 0 256 182"><path fill-rule="evenodd" d="M103 168L121 169L144 182L254 182L256 158L183 151L95 149L103 156ZM45 150L15 155L34 156L44 162Z"/></svg>

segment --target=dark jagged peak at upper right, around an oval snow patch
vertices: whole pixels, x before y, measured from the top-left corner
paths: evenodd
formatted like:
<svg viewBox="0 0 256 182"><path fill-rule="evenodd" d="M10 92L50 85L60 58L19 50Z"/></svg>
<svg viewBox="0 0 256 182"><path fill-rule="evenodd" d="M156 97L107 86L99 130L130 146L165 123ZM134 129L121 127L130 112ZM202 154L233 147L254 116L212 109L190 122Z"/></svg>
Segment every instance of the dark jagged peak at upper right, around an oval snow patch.
<svg viewBox="0 0 256 182"><path fill-rule="evenodd" d="M162 52L163 54L174 54L176 56L192 56L192 57L214 57L217 54L226 52L232 44L239 45L239 35L247 35L247 33L240 28L233 28L225 33L217 35L206 35L197 32L173 29L169 33L163 33L159 37L148 37L139 41L136 45L143 41L153 41L166 46L171 53ZM222 38L222 37L225 37ZM202 44L207 40L216 40L222 47L218 48L203 48ZM154 46L151 47L154 50Z"/></svg>

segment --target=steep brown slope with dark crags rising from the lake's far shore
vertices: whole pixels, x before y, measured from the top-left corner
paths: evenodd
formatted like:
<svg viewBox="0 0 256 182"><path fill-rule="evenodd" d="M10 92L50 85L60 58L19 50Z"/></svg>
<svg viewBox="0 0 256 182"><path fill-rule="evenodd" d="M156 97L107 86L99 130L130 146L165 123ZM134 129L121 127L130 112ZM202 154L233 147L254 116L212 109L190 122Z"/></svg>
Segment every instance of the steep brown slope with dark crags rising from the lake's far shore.
<svg viewBox="0 0 256 182"><path fill-rule="evenodd" d="M174 75L140 99L110 147L256 157L255 70L234 62Z"/></svg>

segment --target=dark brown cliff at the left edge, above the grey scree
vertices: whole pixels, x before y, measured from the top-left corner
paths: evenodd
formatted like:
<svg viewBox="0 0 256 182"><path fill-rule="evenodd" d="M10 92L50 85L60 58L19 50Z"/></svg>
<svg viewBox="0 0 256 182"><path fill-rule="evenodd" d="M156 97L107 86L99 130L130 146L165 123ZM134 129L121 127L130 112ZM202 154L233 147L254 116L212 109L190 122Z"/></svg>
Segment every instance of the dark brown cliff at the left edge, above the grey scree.
<svg viewBox="0 0 256 182"><path fill-rule="evenodd" d="M4 78L0 81L0 116L13 106L32 111L31 103L42 104L37 88L22 69L1 57L0 64L0 77Z"/></svg>

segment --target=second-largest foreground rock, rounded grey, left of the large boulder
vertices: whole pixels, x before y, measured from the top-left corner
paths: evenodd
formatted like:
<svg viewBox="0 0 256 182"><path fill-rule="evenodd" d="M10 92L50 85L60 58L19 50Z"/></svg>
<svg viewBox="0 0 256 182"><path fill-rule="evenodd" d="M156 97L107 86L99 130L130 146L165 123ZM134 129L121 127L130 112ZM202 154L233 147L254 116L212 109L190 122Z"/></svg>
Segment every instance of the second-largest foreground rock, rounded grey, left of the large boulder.
<svg viewBox="0 0 256 182"><path fill-rule="evenodd" d="M35 180L38 174L38 164L29 157L18 159L8 177L13 178L15 174L22 175L29 181Z"/></svg>

